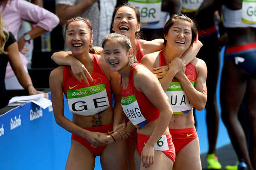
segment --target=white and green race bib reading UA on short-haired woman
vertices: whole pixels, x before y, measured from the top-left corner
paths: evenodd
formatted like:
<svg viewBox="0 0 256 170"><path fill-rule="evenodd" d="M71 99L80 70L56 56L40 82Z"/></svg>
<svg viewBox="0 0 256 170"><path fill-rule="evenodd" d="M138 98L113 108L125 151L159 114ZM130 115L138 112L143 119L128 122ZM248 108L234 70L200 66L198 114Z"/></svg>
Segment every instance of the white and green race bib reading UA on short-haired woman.
<svg viewBox="0 0 256 170"><path fill-rule="evenodd" d="M195 82L191 82L195 87ZM180 82L172 82L166 91L169 97L169 104L172 106L173 113L188 113L192 110L193 105L189 102L185 91Z"/></svg>

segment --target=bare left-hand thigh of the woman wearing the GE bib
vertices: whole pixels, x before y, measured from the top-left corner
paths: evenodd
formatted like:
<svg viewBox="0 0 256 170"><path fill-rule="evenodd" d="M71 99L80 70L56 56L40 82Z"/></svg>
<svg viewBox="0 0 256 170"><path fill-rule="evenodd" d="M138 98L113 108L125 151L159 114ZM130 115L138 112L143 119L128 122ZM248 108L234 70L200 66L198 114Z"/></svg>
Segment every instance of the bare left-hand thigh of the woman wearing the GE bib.
<svg viewBox="0 0 256 170"><path fill-rule="evenodd" d="M95 157L84 145L71 140L70 152L65 170L93 170Z"/></svg>

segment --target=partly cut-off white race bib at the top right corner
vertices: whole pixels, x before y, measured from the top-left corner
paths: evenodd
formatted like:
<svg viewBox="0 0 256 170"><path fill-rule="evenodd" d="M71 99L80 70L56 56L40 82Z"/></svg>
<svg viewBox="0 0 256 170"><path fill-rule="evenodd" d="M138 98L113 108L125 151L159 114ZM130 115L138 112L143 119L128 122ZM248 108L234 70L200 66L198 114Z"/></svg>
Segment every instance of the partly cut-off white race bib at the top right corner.
<svg viewBox="0 0 256 170"><path fill-rule="evenodd" d="M256 0L243 0L242 23L256 23Z"/></svg>

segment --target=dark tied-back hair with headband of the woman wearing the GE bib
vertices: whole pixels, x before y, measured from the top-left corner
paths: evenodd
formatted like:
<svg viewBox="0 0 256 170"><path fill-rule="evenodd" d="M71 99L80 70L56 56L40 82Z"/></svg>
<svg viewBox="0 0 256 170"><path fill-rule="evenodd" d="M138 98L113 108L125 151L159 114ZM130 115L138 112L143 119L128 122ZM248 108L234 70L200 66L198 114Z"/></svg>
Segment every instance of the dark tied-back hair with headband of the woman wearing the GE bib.
<svg viewBox="0 0 256 170"><path fill-rule="evenodd" d="M90 20L83 18L83 17L73 17L69 20L66 20L62 27L62 34L63 34L64 40L66 38L66 31L67 31L69 24L74 21L82 21L82 22L86 23L88 28L90 29L90 35L93 36L93 24L90 22ZM92 53L92 54L99 54L99 52L93 48L93 45L91 43L90 43L88 51L89 51L89 53Z"/></svg>

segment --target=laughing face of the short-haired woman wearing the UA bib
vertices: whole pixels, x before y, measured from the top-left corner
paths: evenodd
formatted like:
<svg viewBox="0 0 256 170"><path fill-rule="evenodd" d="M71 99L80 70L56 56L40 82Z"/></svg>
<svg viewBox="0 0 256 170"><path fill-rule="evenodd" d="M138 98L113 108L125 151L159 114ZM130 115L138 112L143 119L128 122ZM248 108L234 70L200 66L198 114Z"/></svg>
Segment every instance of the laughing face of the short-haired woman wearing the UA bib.
<svg viewBox="0 0 256 170"><path fill-rule="evenodd" d="M168 33L164 36L167 40L166 47L175 51L185 52L192 41L191 23L188 21L177 20Z"/></svg>

